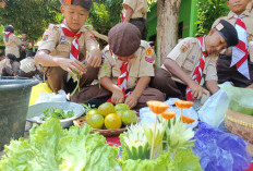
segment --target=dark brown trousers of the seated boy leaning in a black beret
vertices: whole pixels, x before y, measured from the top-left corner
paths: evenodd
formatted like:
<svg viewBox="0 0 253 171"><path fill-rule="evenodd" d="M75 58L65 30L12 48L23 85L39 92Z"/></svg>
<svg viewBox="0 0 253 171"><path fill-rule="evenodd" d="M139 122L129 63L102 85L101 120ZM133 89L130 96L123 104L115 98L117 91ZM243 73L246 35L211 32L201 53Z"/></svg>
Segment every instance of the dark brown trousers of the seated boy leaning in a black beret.
<svg viewBox="0 0 253 171"><path fill-rule="evenodd" d="M155 70L155 77L152 78L150 87L159 89L166 94L166 99L170 97L182 98L185 94L185 86L182 84L177 84L172 77L171 73L164 69Z"/></svg>

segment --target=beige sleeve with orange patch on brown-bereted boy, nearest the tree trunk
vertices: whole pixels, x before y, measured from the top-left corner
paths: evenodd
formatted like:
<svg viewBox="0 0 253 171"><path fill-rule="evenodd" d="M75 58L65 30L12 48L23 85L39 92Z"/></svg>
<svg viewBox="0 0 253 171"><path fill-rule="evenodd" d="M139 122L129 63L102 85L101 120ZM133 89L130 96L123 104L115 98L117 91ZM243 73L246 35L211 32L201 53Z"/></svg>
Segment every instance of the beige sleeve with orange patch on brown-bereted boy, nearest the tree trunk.
<svg viewBox="0 0 253 171"><path fill-rule="evenodd" d="M152 48L143 50L142 57L143 58L141 58L138 77L155 76L155 71L153 66L156 61L155 51Z"/></svg>

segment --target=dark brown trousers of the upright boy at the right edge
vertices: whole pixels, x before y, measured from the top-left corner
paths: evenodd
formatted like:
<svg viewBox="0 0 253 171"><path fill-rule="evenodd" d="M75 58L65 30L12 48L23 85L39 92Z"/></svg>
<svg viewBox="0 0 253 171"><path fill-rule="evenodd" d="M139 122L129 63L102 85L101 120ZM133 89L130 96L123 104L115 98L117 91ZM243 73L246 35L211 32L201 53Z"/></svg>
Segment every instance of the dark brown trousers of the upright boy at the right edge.
<svg viewBox="0 0 253 171"><path fill-rule="evenodd" d="M231 59L218 59L217 75L218 83L232 82L236 87L246 87L253 84L253 62L249 61L250 78L248 80L241 73L237 71L236 65L230 68Z"/></svg>

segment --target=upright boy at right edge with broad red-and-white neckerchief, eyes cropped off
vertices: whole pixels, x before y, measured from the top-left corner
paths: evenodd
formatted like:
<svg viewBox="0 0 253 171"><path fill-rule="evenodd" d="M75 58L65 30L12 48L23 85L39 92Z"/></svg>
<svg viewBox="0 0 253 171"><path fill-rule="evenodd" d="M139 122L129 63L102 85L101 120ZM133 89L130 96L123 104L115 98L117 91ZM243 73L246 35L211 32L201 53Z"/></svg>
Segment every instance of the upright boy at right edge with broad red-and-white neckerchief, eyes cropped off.
<svg viewBox="0 0 253 171"><path fill-rule="evenodd" d="M231 23L238 30L239 45L222 50L217 63L218 83L232 82L237 87L248 87L253 83L253 57L250 56L250 41L253 40L253 14L248 7L249 0L228 0L230 12L220 20ZM248 8L246 8L248 7Z"/></svg>

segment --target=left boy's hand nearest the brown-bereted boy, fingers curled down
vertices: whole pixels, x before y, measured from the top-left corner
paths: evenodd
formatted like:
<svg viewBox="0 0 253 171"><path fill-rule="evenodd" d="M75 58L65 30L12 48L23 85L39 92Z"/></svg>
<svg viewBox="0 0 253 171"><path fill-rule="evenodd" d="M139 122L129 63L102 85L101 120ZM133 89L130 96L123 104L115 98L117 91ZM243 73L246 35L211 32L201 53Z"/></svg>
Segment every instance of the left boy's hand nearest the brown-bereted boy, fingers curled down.
<svg viewBox="0 0 253 171"><path fill-rule="evenodd" d="M101 51L98 49L92 50L87 54L87 65L92 68L99 68L101 63Z"/></svg>

